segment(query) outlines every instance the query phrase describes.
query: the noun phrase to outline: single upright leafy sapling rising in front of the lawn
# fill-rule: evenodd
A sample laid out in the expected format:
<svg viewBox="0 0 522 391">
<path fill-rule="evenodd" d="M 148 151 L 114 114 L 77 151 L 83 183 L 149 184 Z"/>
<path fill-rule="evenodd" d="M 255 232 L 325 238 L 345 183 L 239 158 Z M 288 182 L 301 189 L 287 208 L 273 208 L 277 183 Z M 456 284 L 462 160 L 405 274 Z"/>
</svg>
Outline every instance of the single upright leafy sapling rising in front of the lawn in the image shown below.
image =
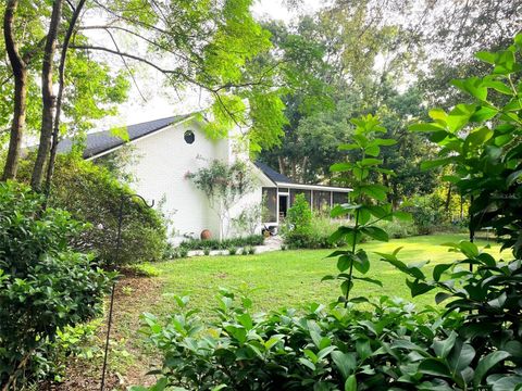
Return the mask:
<svg viewBox="0 0 522 391">
<path fill-rule="evenodd" d="M 353 268 L 361 275 L 365 275 L 370 269 L 370 261 L 363 249 L 358 249 L 361 239 L 370 237 L 380 241 L 388 241 L 388 234 L 375 226 L 381 220 L 393 220 L 394 217 L 408 219 L 410 215 L 405 212 L 394 212 L 393 206 L 387 202 L 388 188 L 375 184 L 375 176 L 386 174 L 393 175 L 389 169 L 381 167 L 383 161 L 378 159 L 381 147 L 388 147 L 396 143 L 393 139 L 378 138 L 375 135 L 385 134 L 386 129 L 381 126 L 381 122 L 369 114 L 361 118 L 353 118 L 351 123 L 356 126 L 353 130 L 353 142 L 339 146 L 340 151 L 359 151 L 360 160 L 357 162 L 343 162 L 334 164 L 331 171 L 334 173 L 347 173 L 351 178 L 352 191 L 348 194 L 349 202 L 334 206 L 331 212 L 332 217 L 350 216 L 352 225 L 340 226 L 332 236 L 332 242 L 338 242 L 345 239 L 348 250 L 339 250 L 330 254 L 330 257 L 337 256 L 337 276 L 325 276 L 326 279 L 343 280 L 340 289 L 343 297 L 339 302 L 345 306 L 348 302 L 368 301 L 365 298 L 353 298 L 350 300 L 350 291 L 353 288 L 353 280 L 361 280 L 376 283 L 382 287 L 382 282 L 369 277 L 353 275 Z"/>
</svg>

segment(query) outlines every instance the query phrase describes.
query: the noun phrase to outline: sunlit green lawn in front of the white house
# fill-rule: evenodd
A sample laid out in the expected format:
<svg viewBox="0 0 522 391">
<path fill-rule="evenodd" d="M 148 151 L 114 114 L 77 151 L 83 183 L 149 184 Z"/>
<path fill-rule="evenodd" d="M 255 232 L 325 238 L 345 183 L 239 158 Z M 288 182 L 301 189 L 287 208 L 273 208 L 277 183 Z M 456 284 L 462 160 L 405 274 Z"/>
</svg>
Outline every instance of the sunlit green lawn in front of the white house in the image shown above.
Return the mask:
<svg viewBox="0 0 522 391">
<path fill-rule="evenodd" d="M 463 235 L 436 235 L 395 239 L 387 243 L 369 242 L 363 244 L 371 258 L 368 277 L 377 278 L 383 288 L 356 282 L 353 295 L 401 297 L 411 300 L 405 285 L 406 277 L 394 267 L 378 261 L 373 252 L 391 252 L 402 247 L 399 258 L 405 263 L 430 261 L 426 269 L 437 263 L 448 262 L 459 256 L 448 253 L 440 243 L 465 239 Z M 477 244 L 485 245 L 486 241 Z M 487 250 L 498 255 L 499 247 Z M 277 310 L 282 306 L 299 307 L 304 303 L 330 303 L 339 295 L 337 281 L 321 282 L 327 274 L 336 273 L 336 258 L 325 258 L 331 250 L 277 251 L 259 255 L 198 256 L 154 264 L 160 270 L 163 293 L 188 294 L 191 307 L 208 311 L 215 303 L 217 288 L 237 288 L 246 283 L 254 290 L 250 298 L 258 311 Z M 505 255 L 507 256 L 507 255 Z M 419 305 L 433 304 L 433 294 L 413 300 Z M 156 302 L 156 313 L 164 314 L 174 310 L 173 301 L 165 295 Z"/>
</svg>

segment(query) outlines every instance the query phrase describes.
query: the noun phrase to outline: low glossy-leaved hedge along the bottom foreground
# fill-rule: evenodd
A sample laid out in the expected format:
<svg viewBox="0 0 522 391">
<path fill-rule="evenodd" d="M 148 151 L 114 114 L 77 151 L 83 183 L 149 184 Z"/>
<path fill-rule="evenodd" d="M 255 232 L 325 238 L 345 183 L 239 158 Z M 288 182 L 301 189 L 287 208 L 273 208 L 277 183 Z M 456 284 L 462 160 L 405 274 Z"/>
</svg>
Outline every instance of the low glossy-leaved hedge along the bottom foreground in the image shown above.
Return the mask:
<svg viewBox="0 0 522 391">
<path fill-rule="evenodd" d="M 443 330 L 435 312 L 419 314 L 387 298 L 373 303 L 373 311 L 311 304 L 303 314 L 252 315 L 247 297 L 221 290 L 216 320 L 204 323 L 185 308 L 187 298 L 177 302 L 183 312 L 166 323 L 151 314 L 142 321 L 165 357 L 157 371 L 164 377 L 160 383 L 186 390 L 413 389 L 410 377 L 424 375 L 405 348 L 428 351 Z M 427 390 L 436 384 L 432 378 L 415 382 Z"/>
</svg>

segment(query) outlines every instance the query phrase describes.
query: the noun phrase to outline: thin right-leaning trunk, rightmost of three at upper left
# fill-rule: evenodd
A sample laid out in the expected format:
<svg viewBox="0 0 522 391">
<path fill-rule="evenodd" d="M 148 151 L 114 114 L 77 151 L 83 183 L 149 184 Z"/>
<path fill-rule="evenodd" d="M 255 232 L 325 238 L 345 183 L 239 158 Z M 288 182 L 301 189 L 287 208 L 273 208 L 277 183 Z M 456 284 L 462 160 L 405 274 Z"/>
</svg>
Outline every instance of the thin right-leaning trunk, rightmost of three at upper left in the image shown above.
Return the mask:
<svg viewBox="0 0 522 391">
<path fill-rule="evenodd" d="M 67 27 L 67 33 L 63 39 L 62 52 L 60 55 L 60 65 L 59 65 L 59 80 L 58 80 L 58 97 L 57 97 L 57 111 L 54 113 L 54 122 L 52 124 L 52 140 L 51 140 L 51 152 L 49 155 L 49 162 L 47 164 L 47 175 L 46 175 L 46 186 L 45 193 L 46 199 L 49 198 L 51 192 L 51 180 L 54 173 L 54 162 L 57 159 L 57 148 L 59 142 L 60 135 L 60 116 L 62 112 L 62 99 L 63 99 L 63 89 L 65 87 L 65 62 L 67 60 L 67 50 L 69 43 L 71 42 L 71 37 L 73 36 L 74 27 L 78 21 L 79 13 L 82 12 L 86 0 L 80 0 L 76 9 L 74 10 L 73 15 L 71 16 L 71 22 Z"/>
</svg>

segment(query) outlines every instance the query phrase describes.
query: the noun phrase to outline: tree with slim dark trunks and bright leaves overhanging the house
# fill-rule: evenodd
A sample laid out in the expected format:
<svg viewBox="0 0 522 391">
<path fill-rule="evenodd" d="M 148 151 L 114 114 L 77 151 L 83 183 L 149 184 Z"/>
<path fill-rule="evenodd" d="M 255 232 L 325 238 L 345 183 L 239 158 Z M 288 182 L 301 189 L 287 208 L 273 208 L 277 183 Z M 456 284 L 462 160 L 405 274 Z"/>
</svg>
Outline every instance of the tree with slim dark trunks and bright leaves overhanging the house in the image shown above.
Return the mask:
<svg viewBox="0 0 522 391">
<path fill-rule="evenodd" d="M 62 10 L 63 3 L 63 10 Z M 254 150 L 270 147 L 278 142 L 281 127 L 285 119 L 284 104 L 279 98 L 278 87 L 274 83 L 277 67 L 273 64 L 252 66 L 253 59 L 270 49 L 270 34 L 263 29 L 251 16 L 250 0 L 221 1 L 194 1 L 172 3 L 146 2 L 135 0 L 101 2 L 97 0 L 78 0 L 77 2 L 39 1 L 34 7 L 21 3 L 20 22 L 25 23 L 27 10 L 33 10 L 39 17 L 32 16 L 34 24 L 39 28 L 39 36 L 46 42 L 45 48 L 38 51 L 42 56 L 42 66 L 27 68 L 30 78 L 40 76 L 42 83 L 42 99 L 27 101 L 32 110 L 40 108 L 40 115 L 32 123 L 34 128 L 40 129 L 40 144 L 35 164 L 32 184 L 40 190 L 45 164 L 47 164 L 47 182 L 52 177 L 52 167 L 55 155 L 55 146 L 59 134 L 67 131 L 61 126 L 61 112 L 69 114 L 70 106 L 84 106 L 80 102 L 85 96 L 80 87 L 91 77 L 100 81 L 103 75 L 111 75 L 109 85 L 113 85 L 117 93 L 103 93 L 97 88 L 91 91 L 94 99 L 85 105 L 90 109 L 89 115 L 82 117 L 78 123 L 80 130 L 89 127 L 90 118 L 99 117 L 100 113 L 113 113 L 113 108 L 107 103 L 121 102 L 124 85 L 121 75 L 136 84 L 133 67 L 135 63 L 145 64 L 165 76 L 165 85 L 175 90 L 186 87 L 197 87 L 206 91 L 209 99 L 213 100 L 211 109 L 213 121 L 206 127 L 211 137 L 222 137 L 233 126 L 249 127 L 250 146 Z M 10 7 L 4 10 L 4 20 L 8 27 L 12 21 L 17 1 L 10 1 Z M 61 12 L 63 11 L 63 12 Z M 103 14 L 103 25 L 84 25 L 89 21 L 89 12 Z M 11 22 L 10 22 L 11 21 Z M 42 26 L 48 26 L 48 34 L 41 34 Z M 10 29 L 5 29 L 9 31 Z M 13 30 L 13 29 L 11 29 Z M 92 43 L 87 31 L 100 30 L 107 34 L 109 45 Z M 16 29 L 17 40 L 24 42 L 26 37 Z M 13 37 L 15 34 L 13 35 Z M 8 35 L 7 43 L 16 48 L 16 41 Z M 32 37 L 34 39 L 34 37 Z M 136 42 L 135 48 L 144 48 L 141 52 L 133 53 L 121 49 L 124 39 Z M 9 41 L 9 42 L 8 42 Z M 61 48 L 60 60 L 57 62 L 54 51 Z M 11 52 L 15 53 L 13 50 Z M 96 53 L 92 55 L 92 53 Z M 107 65 L 102 54 L 115 56 L 122 61 L 122 66 Z M 20 55 L 18 55 L 20 58 Z M 24 65 L 16 55 L 14 64 Z M 169 59 L 172 66 L 164 65 Z M 16 62 L 17 61 L 17 62 Z M 65 64 L 67 64 L 65 66 Z M 87 65 L 88 64 L 88 65 Z M 258 64 L 259 65 L 259 64 Z M 72 70 L 92 66 L 94 75 L 89 73 L 78 76 L 78 84 L 67 77 Z M 58 96 L 52 93 L 51 80 L 53 70 L 59 70 Z M 24 67 L 17 67 L 22 71 Z M 14 70 L 14 67 L 13 67 Z M 11 72 L 5 70 L 7 73 Z M 90 71 L 90 70 L 89 70 Z M 117 71 L 115 74 L 114 71 Z M 98 72 L 98 73 L 96 73 Z M 23 72 L 21 74 L 23 76 Z M 23 81 L 23 77 L 18 77 Z M 104 81 L 104 80 L 102 80 Z M 14 112 L 12 148 L 8 160 L 8 174 L 15 175 L 18 160 L 20 140 L 23 131 L 24 113 L 27 93 L 33 85 L 22 86 L 20 92 L 13 94 L 14 106 L 20 110 Z M 37 90 L 37 89 L 36 89 Z M 18 90 L 16 90 L 18 91 Z M 92 94 L 92 92 L 91 92 Z M 30 96 L 30 93 L 29 93 Z M 246 104 L 248 100 L 248 104 Z M 79 104 L 78 104 L 79 103 Z M 55 108 L 55 110 L 54 110 Z M 36 111 L 36 110 L 35 110 Z M 86 114 L 85 110 L 80 110 Z M 73 113 L 73 116 L 74 113 Z M 90 118 L 88 118 L 90 116 Z M 33 121 L 33 119 L 32 119 Z M 21 125 L 17 125 L 21 124 Z M 48 185 L 46 185 L 46 188 Z"/>
</svg>

